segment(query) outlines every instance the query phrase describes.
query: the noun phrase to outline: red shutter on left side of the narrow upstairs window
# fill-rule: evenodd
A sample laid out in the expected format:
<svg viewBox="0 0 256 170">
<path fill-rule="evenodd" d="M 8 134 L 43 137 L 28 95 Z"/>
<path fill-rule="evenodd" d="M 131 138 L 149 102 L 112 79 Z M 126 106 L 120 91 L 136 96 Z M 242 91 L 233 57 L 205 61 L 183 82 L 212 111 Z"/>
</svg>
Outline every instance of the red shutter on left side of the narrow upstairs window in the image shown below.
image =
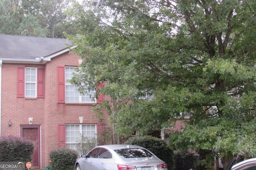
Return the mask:
<svg viewBox="0 0 256 170">
<path fill-rule="evenodd" d="M 25 67 L 18 67 L 17 97 L 25 97 Z"/>
</svg>

